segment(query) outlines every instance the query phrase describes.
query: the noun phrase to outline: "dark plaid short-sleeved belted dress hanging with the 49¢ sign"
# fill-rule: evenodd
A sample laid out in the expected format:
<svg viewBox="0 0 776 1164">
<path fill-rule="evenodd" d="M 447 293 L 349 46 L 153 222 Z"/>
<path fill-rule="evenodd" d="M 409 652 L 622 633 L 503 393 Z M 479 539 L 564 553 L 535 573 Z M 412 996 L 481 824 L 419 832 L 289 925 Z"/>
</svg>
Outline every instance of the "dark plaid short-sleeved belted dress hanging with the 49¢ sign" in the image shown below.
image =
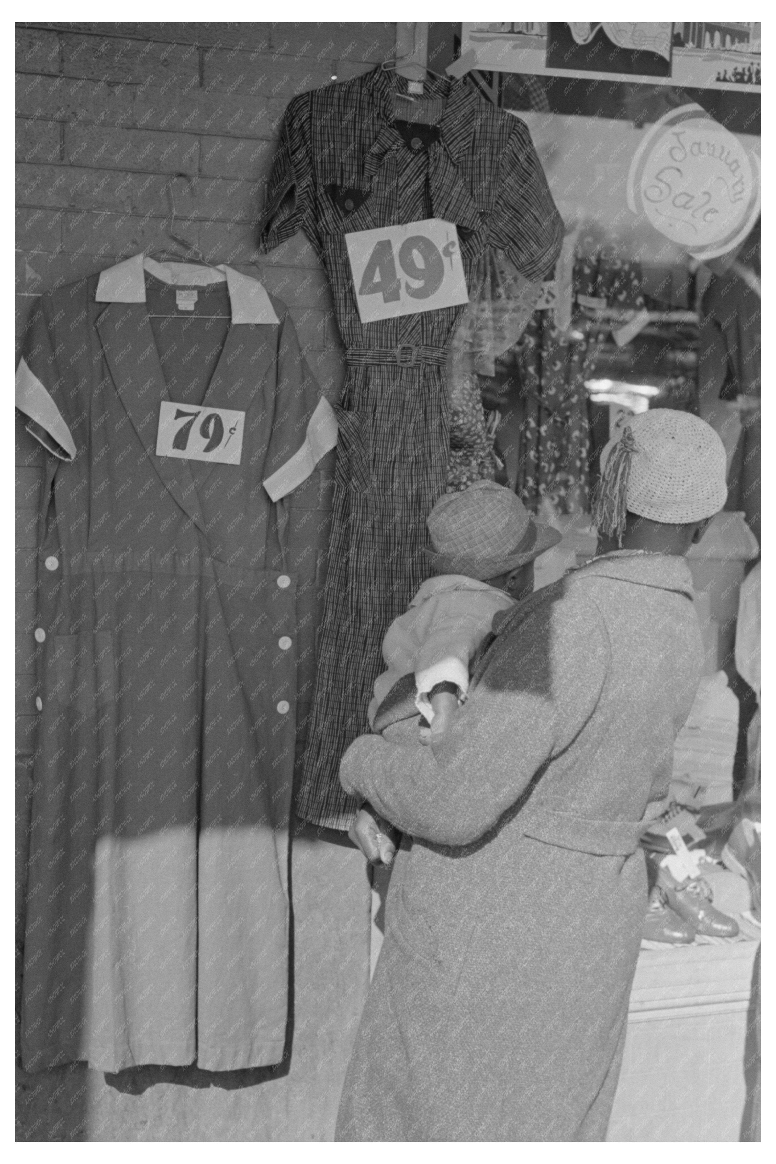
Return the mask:
<svg viewBox="0 0 776 1164">
<path fill-rule="evenodd" d="M 450 409 L 444 367 L 462 307 L 362 324 L 346 232 L 443 219 L 457 227 L 470 293 L 485 247 L 527 282 L 557 258 L 562 222 L 526 126 L 471 84 L 429 78 L 422 100 L 377 68 L 294 98 L 268 186 L 261 246 L 304 230 L 325 264 L 348 372 L 318 640 L 301 817 L 348 829 L 356 802 L 339 779 L 369 730 L 385 631 L 428 576 L 426 518 L 444 491 Z"/>
</svg>

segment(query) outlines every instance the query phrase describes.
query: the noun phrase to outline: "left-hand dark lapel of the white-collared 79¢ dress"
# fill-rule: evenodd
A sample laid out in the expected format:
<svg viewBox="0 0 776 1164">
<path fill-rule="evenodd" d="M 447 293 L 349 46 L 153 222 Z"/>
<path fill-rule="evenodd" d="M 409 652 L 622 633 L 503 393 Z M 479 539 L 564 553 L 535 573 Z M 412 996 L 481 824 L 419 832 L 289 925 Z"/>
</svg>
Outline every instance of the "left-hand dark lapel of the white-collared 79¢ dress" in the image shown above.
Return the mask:
<svg viewBox="0 0 776 1164">
<path fill-rule="evenodd" d="M 188 462 L 156 455 L 159 402 L 169 397 L 145 304 L 108 304 L 97 329 L 119 398 L 151 464 L 180 509 L 207 533 Z"/>
</svg>

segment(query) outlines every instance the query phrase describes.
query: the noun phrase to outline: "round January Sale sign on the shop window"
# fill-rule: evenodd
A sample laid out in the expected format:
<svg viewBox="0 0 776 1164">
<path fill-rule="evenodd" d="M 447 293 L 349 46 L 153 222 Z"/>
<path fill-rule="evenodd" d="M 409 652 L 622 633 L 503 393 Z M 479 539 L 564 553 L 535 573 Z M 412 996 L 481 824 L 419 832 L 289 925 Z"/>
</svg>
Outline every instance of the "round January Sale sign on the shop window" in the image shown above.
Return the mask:
<svg viewBox="0 0 776 1164">
<path fill-rule="evenodd" d="M 695 258 L 724 255 L 760 213 L 760 164 L 699 105 L 656 121 L 631 163 L 628 206 Z"/>
</svg>

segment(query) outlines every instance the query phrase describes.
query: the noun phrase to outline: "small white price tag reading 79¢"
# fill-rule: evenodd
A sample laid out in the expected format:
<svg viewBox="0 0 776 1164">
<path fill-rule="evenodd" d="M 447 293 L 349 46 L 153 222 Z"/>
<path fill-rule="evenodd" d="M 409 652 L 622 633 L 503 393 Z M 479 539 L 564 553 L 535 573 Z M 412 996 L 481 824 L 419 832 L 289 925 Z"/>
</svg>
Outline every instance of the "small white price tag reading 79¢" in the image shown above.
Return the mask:
<svg viewBox="0 0 776 1164">
<path fill-rule="evenodd" d="M 245 413 L 239 410 L 192 409 L 162 400 L 156 455 L 240 464 L 244 427 Z"/>
</svg>

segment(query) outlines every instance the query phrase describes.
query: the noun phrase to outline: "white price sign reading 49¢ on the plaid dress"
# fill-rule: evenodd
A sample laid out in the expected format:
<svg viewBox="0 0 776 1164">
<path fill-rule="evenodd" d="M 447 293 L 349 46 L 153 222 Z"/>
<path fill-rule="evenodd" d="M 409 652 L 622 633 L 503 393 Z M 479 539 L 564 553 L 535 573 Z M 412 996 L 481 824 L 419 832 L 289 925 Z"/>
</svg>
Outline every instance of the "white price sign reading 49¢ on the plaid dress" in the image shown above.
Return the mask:
<svg viewBox="0 0 776 1164">
<path fill-rule="evenodd" d="M 469 303 L 458 232 L 423 219 L 344 236 L 362 324 Z"/>
</svg>

